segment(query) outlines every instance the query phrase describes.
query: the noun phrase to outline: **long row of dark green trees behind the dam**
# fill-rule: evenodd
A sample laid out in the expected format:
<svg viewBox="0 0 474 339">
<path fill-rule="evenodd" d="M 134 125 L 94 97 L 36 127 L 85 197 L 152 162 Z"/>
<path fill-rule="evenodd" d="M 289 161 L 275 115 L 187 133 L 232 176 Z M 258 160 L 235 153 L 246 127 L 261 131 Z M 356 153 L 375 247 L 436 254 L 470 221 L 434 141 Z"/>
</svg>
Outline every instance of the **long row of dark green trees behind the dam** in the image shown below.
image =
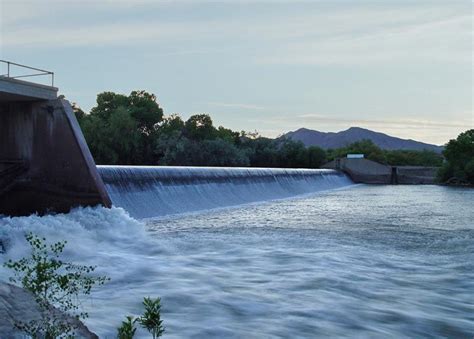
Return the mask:
<svg viewBox="0 0 474 339">
<path fill-rule="evenodd" d="M 449 176 L 469 180 L 469 175 L 460 174 L 466 164 L 443 165 L 444 157 L 447 161 L 458 157 L 451 141 L 444 157 L 429 150 L 383 150 L 370 140 L 323 150 L 286 137 L 271 139 L 257 132 L 216 127 L 208 114 L 187 120 L 177 114 L 165 116 L 156 96 L 146 91 L 103 92 L 89 114 L 77 105 L 73 109 L 99 164 L 318 168 L 348 153 L 363 153 L 388 165 L 443 166 L 443 180 Z"/>
</svg>

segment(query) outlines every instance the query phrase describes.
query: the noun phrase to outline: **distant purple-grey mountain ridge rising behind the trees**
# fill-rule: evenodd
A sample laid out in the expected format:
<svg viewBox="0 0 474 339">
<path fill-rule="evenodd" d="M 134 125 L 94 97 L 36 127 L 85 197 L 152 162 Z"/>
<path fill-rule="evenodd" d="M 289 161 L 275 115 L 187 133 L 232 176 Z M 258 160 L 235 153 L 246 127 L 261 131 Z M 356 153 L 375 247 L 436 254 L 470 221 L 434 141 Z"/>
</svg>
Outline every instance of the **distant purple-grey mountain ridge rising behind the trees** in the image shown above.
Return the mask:
<svg viewBox="0 0 474 339">
<path fill-rule="evenodd" d="M 284 136 L 293 140 L 299 140 L 306 146 L 319 146 L 325 149 L 344 147 L 362 139 L 369 139 L 380 148 L 387 150 L 403 149 L 421 151 L 426 149 L 438 153 L 441 153 L 443 150 L 442 146 L 426 144 L 411 139 L 400 139 L 360 127 L 351 127 L 348 130 L 337 133 L 325 133 L 300 128 L 294 132 L 288 132 Z"/>
</svg>

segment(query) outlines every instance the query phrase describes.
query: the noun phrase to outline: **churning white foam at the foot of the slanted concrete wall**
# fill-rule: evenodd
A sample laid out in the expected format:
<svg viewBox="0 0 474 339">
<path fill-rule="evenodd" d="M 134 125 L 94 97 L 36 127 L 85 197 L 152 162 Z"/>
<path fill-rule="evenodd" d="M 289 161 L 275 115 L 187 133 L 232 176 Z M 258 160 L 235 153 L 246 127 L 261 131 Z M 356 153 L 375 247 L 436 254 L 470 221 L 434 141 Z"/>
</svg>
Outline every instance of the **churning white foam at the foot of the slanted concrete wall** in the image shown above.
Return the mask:
<svg viewBox="0 0 474 339">
<path fill-rule="evenodd" d="M 110 263 L 122 260 L 126 253 L 141 249 L 150 241 L 144 225 L 123 209 L 85 207 L 68 214 L 0 218 L 0 240 L 6 252 L 1 259 L 18 259 L 29 253 L 25 240 L 28 232 L 45 237 L 48 242 L 66 240 L 66 259 L 107 267 L 107 274 L 115 276 L 120 275 L 120 267 Z M 8 275 L 3 266 L 0 273 L 2 278 Z"/>
</svg>

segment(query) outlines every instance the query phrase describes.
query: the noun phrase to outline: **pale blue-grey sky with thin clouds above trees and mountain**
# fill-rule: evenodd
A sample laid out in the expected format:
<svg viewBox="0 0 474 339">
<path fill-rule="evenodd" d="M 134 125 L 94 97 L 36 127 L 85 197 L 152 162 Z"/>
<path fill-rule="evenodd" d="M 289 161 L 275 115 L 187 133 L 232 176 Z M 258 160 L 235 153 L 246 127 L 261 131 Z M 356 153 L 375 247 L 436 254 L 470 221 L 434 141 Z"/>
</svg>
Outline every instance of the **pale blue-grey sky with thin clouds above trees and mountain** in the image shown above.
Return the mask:
<svg viewBox="0 0 474 339">
<path fill-rule="evenodd" d="M 471 0 L 0 0 L 0 59 L 275 137 L 351 126 L 444 144 L 474 128 Z"/>
</svg>

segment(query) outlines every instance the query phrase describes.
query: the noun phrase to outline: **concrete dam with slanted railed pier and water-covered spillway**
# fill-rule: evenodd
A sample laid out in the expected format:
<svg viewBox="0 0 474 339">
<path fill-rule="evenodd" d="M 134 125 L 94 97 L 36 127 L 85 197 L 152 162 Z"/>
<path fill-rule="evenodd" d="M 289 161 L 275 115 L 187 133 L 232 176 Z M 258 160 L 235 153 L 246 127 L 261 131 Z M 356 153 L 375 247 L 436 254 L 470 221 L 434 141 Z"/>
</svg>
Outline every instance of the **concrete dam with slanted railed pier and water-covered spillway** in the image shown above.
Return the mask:
<svg viewBox="0 0 474 339">
<path fill-rule="evenodd" d="M 96 166 L 71 105 L 57 96 L 54 73 L 0 64 L 7 67 L 0 76 L 0 215 L 113 203 L 135 218 L 151 218 L 352 184 L 334 170 Z M 38 76 L 50 82 L 30 81 Z"/>
</svg>

